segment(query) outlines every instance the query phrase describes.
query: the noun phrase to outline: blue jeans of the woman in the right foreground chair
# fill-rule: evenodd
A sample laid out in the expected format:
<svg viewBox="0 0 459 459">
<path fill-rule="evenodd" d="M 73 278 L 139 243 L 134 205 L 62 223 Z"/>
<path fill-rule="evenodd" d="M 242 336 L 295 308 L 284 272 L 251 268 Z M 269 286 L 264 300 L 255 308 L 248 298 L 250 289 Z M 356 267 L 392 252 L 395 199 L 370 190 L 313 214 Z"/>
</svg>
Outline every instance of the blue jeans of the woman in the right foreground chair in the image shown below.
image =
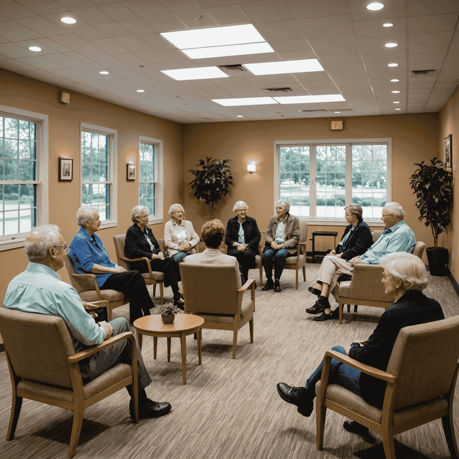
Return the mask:
<svg viewBox="0 0 459 459">
<path fill-rule="evenodd" d="M 344 347 L 342 346 L 333 346 L 331 350 L 346 355 Z M 319 366 L 314 370 L 313 374 L 309 376 L 308 381 L 306 381 L 305 387 L 311 397 L 315 397 L 315 385 L 317 381 L 320 381 L 322 377 L 322 364 L 323 361 L 320 362 Z M 328 383 L 339 384 L 340 386 L 345 387 L 348 391 L 351 391 L 354 394 L 362 397 L 362 392 L 360 392 L 360 387 L 358 386 L 360 373 L 361 372 L 355 368 L 352 368 L 346 364 L 342 364 L 336 360 L 336 358 L 332 358 Z"/>
</svg>

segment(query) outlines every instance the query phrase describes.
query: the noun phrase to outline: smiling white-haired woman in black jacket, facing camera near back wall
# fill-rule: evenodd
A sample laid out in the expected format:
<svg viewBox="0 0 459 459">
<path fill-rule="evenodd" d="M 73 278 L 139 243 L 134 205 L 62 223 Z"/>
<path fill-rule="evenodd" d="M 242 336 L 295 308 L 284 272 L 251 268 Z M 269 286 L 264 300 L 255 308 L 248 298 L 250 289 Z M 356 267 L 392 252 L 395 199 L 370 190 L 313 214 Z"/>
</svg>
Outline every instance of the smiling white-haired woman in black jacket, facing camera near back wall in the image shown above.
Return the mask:
<svg viewBox="0 0 459 459">
<path fill-rule="evenodd" d="M 236 257 L 245 281 L 248 279 L 249 269 L 255 266 L 255 256 L 260 253 L 258 244 L 261 239 L 257 221 L 247 216 L 248 211 L 249 206 L 244 201 L 237 201 L 233 207 L 236 216 L 228 220 L 225 232 L 227 253 Z"/>
</svg>

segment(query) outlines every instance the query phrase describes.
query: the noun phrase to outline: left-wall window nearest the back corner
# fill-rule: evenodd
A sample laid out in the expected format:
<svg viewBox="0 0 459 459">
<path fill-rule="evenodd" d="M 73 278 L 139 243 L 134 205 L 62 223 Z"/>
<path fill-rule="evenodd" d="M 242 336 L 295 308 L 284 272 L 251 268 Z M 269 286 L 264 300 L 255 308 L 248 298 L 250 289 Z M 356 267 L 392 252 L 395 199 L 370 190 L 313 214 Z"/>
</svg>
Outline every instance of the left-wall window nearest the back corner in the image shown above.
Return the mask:
<svg viewBox="0 0 459 459">
<path fill-rule="evenodd" d="M 162 140 L 139 136 L 139 204 L 149 223 L 162 222 Z"/>
</svg>

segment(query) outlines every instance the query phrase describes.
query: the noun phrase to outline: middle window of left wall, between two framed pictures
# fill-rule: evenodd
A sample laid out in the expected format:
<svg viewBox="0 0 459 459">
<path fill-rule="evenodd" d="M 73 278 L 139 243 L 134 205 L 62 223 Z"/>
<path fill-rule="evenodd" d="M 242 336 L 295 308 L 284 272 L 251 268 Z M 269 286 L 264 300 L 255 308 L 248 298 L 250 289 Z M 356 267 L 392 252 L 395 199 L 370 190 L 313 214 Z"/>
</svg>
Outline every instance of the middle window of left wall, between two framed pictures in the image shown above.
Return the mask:
<svg viewBox="0 0 459 459">
<path fill-rule="evenodd" d="M 117 134 L 81 123 L 81 205 L 99 210 L 101 228 L 117 224 Z"/>
</svg>

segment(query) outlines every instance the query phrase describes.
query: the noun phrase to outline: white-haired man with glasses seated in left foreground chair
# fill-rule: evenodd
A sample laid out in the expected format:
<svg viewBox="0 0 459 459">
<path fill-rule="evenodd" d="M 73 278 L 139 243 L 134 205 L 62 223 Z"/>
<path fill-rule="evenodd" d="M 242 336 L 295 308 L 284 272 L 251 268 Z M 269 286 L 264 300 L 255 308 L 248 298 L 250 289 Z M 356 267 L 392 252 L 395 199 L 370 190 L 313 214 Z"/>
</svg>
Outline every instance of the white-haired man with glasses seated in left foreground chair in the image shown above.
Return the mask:
<svg viewBox="0 0 459 459">
<path fill-rule="evenodd" d="M 123 317 L 107 323 L 99 322 L 84 310 L 88 303 L 82 302 L 77 291 L 62 282 L 57 271 L 64 266 L 65 249 L 59 228 L 54 225 L 37 226 L 27 236 L 24 246 L 29 259 L 27 269 L 11 280 L 6 290 L 4 306 L 27 313 L 50 314 L 62 317 L 72 338 L 75 353 L 101 344 L 111 336 L 129 331 Z M 27 339 L 27 337 L 25 337 Z M 79 362 L 83 384 L 112 368 L 118 362 L 130 364 L 130 349 L 127 340 L 120 341 Z M 157 418 L 171 409 L 169 403 L 157 403 L 146 397 L 145 388 L 151 383 L 140 349 L 137 348 L 139 372 L 139 418 Z M 131 396 L 129 411 L 134 418 L 131 386 L 126 389 Z"/>
</svg>

